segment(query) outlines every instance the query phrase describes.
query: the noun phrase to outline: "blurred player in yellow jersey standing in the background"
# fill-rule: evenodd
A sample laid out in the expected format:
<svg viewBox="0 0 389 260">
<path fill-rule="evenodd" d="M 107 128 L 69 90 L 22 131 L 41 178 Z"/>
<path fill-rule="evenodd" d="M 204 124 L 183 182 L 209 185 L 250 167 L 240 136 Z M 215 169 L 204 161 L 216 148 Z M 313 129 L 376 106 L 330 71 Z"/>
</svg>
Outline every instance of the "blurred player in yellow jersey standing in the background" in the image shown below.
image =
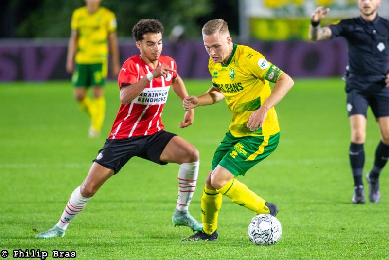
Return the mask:
<svg viewBox="0 0 389 260">
<path fill-rule="evenodd" d="M 74 10 L 68 45 L 66 70 L 73 73 L 74 96 L 91 117 L 89 137 L 97 137 L 103 125 L 106 101 L 103 85 L 108 72 L 108 44 L 112 57 L 112 76 L 120 71 L 115 14 L 100 7 L 101 0 L 85 0 L 86 6 Z M 93 87 L 93 98 L 87 88 Z"/>
</svg>

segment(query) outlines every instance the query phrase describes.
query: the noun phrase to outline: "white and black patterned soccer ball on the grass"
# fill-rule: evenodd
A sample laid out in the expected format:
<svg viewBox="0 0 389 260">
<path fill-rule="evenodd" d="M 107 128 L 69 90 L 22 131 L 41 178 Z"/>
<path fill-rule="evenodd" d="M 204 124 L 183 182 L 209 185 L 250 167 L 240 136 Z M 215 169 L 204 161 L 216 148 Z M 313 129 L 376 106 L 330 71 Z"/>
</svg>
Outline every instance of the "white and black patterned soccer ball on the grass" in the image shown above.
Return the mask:
<svg viewBox="0 0 389 260">
<path fill-rule="evenodd" d="M 248 225 L 250 241 L 257 245 L 273 245 L 281 238 L 281 233 L 280 221 L 270 214 L 257 215 Z"/>
</svg>

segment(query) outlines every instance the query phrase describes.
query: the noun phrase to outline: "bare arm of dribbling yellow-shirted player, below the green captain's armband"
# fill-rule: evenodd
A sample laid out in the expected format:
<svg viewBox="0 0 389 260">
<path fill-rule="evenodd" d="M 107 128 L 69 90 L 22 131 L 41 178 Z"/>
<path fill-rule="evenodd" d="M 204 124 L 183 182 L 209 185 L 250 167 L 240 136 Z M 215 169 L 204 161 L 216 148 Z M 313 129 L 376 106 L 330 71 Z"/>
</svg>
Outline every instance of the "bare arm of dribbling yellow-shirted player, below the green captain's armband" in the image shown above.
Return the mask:
<svg viewBox="0 0 389 260">
<path fill-rule="evenodd" d="M 265 122 L 267 111 L 280 102 L 288 91 L 293 87 L 293 79 L 286 73 L 280 75 L 277 79 L 276 85 L 274 85 L 273 92 L 261 105 L 261 107 L 252 112 L 250 120 L 247 122 L 247 128 L 251 131 L 257 130 L 258 127 L 262 127 Z"/>
</svg>

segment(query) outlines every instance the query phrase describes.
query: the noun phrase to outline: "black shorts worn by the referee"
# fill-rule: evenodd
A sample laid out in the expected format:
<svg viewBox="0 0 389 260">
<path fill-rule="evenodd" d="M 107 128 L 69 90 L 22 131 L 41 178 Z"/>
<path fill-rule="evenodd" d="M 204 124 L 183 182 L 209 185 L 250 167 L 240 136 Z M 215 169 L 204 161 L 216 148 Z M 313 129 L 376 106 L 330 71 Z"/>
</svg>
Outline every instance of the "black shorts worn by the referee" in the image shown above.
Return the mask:
<svg viewBox="0 0 389 260">
<path fill-rule="evenodd" d="M 366 91 L 360 89 L 348 89 L 347 111 L 348 116 L 362 114 L 365 117 L 368 106 L 374 113 L 375 118 L 389 116 L 389 89 L 382 88 L 381 91 Z"/>
</svg>

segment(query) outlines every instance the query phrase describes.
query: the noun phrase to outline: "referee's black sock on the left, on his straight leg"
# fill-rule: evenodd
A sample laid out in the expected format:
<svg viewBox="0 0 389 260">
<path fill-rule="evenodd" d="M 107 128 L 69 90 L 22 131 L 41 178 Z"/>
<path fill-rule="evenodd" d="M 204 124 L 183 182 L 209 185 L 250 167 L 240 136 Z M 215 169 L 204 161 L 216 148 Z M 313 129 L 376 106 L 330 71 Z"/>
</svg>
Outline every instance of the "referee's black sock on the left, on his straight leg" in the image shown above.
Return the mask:
<svg viewBox="0 0 389 260">
<path fill-rule="evenodd" d="M 363 144 L 355 144 L 351 142 L 349 156 L 351 170 L 354 177 L 354 186 L 363 185 L 362 173 L 363 165 L 365 164 L 365 151 L 363 150 Z"/>
</svg>

